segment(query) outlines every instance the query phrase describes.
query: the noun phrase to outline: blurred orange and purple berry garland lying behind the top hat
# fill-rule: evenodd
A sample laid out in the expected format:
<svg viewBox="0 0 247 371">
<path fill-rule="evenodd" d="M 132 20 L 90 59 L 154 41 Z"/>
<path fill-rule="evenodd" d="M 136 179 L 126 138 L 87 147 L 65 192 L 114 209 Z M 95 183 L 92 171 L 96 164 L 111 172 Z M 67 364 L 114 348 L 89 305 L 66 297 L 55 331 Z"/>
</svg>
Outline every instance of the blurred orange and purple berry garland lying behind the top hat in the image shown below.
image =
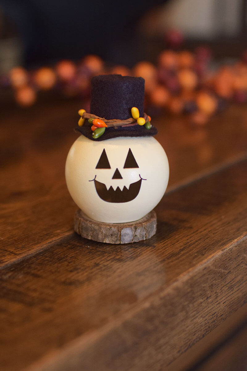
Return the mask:
<svg viewBox="0 0 247 371">
<path fill-rule="evenodd" d="M 75 64 L 61 60 L 54 67 L 42 67 L 28 72 L 22 67 L 1 76 L 2 86 L 11 86 L 20 106 L 31 106 L 38 91 L 59 89 L 65 96 L 81 96 L 89 112 L 90 81 L 92 76 L 106 73 L 142 76 L 145 79 L 145 110 L 155 115 L 162 109 L 172 114 L 186 113 L 195 125 L 205 125 L 225 102 L 247 102 L 247 53 L 233 65 L 222 65 L 210 71 L 212 56 L 207 47 L 194 52 L 164 50 L 157 66 L 139 62 L 132 70 L 125 66 L 107 68 L 96 55 L 85 56 Z"/>
</svg>

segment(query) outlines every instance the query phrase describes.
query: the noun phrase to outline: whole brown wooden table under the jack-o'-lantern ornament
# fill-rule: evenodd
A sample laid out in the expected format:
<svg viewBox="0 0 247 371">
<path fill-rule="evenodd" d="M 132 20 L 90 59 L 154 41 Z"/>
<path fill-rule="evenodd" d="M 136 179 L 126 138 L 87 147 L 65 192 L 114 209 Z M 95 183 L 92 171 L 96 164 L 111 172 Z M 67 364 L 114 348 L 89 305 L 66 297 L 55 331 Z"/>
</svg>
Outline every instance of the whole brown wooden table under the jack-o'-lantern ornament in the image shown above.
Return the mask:
<svg viewBox="0 0 247 371">
<path fill-rule="evenodd" d="M 158 231 L 121 246 L 73 231 L 64 164 L 79 108 L 1 113 L 0 369 L 246 364 L 247 107 L 206 128 L 156 119 L 170 162 Z"/>
</svg>

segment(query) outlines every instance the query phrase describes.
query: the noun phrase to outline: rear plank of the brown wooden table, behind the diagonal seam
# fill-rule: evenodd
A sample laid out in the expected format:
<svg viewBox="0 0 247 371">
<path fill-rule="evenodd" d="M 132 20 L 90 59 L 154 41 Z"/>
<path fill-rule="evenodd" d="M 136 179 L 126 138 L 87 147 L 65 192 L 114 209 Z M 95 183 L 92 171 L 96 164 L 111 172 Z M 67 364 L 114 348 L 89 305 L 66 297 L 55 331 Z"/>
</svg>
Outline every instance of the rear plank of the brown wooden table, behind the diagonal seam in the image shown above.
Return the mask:
<svg viewBox="0 0 247 371">
<path fill-rule="evenodd" d="M 76 207 L 64 164 L 78 137 L 72 128 L 80 106 L 51 99 L 26 110 L 6 107 L 1 114 L 1 266 L 71 233 Z M 169 158 L 169 188 L 245 158 L 246 115 L 247 107 L 230 107 L 204 129 L 190 127 L 183 118 L 156 119 L 157 139 Z"/>
</svg>

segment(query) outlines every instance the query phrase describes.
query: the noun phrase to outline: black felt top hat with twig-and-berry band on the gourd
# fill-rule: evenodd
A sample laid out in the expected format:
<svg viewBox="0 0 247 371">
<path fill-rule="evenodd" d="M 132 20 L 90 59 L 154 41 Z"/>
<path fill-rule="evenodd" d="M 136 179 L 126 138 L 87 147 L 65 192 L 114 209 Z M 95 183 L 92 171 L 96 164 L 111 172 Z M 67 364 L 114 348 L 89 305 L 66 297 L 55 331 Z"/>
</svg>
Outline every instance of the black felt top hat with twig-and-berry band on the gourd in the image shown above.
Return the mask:
<svg viewBox="0 0 247 371">
<path fill-rule="evenodd" d="M 144 84 L 145 80 L 141 77 L 121 75 L 93 77 L 90 114 L 82 112 L 84 110 L 79 111 L 82 118 L 78 123 L 80 126 L 75 128 L 75 131 L 94 141 L 115 137 L 150 137 L 157 134 L 157 129 L 150 125 L 150 117 L 143 112 Z M 135 115 L 132 116 L 133 107 L 135 111 L 139 111 L 142 124 L 138 124 L 140 121 L 133 117 Z M 101 121 L 105 123 L 105 128 L 98 129 L 98 125 L 102 125 Z M 97 130 L 94 132 L 95 125 Z M 99 137 L 97 133 L 100 134 Z"/>
</svg>

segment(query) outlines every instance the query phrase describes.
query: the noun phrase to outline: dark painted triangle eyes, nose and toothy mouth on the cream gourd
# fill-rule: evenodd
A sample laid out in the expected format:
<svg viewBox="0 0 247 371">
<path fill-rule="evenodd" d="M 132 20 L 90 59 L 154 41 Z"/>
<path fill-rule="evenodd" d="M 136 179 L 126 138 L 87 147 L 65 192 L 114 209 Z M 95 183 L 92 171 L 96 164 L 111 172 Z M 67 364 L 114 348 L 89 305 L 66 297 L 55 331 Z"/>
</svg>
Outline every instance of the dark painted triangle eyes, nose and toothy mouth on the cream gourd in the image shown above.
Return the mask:
<svg viewBox="0 0 247 371">
<path fill-rule="evenodd" d="M 124 163 L 124 168 L 121 170 L 121 173 L 124 175 L 124 169 L 139 169 L 139 166 L 135 160 L 135 157 L 133 156 L 133 153 L 131 149 L 129 148 L 125 163 Z M 96 169 L 111 169 L 108 157 L 106 155 L 105 148 L 102 151 L 102 154 L 99 158 L 99 161 L 97 163 Z M 112 180 L 113 183 L 116 183 L 116 181 L 119 181 L 120 179 L 123 179 L 120 171 L 118 168 L 114 171 L 114 174 L 112 175 Z M 101 183 L 100 181 L 97 180 L 97 175 L 95 175 L 94 179 L 89 180 L 89 181 L 94 181 L 95 189 L 97 191 L 98 196 L 106 201 L 106 202 L 115 202 L 115 203 L 121 203 L 121 202 L 129 202 L 132 201 L 134 198 L 139 193 L 139 190 L 141 188 L 142 180 L 141 175 L 139 174 L 140 179 L 137 180 L 134 183 L 131 183 L 129 185 L 129 188 L 124 185 L 124 188 L 121 190 L 119 185 L 116 187 L 114 190 L 113 186 L 109 189 L 106 188 L 106 185 L 104 183 Z"/>
</svg>

